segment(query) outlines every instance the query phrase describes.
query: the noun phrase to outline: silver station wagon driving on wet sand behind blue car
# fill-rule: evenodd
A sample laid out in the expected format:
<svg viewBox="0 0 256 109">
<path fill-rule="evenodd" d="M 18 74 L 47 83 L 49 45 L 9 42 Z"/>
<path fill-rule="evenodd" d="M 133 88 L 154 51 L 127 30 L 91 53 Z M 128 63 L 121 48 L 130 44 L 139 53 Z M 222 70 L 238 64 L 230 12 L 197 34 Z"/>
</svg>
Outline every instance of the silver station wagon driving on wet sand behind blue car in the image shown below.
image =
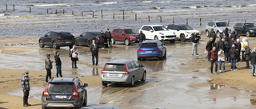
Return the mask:
<svg viewBox="0 0 256 109">
<path fill-rule="evenodd" d="M 130 84 L 146 80 L 146 70 L 135 60 L 111 60 L 104 65 L 101 72 L 102 85 L 110 83 Z"/>
</svg>

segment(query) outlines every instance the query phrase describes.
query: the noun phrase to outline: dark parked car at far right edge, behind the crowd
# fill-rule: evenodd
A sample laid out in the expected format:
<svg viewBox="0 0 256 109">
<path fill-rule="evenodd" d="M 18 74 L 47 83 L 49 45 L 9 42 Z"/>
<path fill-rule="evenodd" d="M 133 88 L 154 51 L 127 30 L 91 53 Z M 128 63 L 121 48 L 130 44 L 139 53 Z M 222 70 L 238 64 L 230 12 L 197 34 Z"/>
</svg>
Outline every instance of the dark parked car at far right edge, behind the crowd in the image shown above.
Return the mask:
<svg viewBox="0 0 256 109">
<path fill-rule="evenodd" d="M 234 30 L 239 35 L 246 35 L 246 37 L 256 36 L 256 24 L 254 23 L 236 23 Z"/>
</svg>

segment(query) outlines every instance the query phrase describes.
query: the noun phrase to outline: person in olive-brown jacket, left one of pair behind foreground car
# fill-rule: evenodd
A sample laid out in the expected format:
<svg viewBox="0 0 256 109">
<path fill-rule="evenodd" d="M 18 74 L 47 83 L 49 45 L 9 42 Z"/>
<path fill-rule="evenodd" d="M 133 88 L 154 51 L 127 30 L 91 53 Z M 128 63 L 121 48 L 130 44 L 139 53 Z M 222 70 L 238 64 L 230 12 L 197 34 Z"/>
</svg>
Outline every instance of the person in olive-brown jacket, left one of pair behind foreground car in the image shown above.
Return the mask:
<svg viewBox="0 0 256 109">
<path fill-rule="evenodd" d="M 46 67 L 46 82 L 48 82 L 48 76 L 51 79 L 51 69 L 53 61 L 50 60 L 50 54 L 46 54 L 45 67 Z"/>
</svg>

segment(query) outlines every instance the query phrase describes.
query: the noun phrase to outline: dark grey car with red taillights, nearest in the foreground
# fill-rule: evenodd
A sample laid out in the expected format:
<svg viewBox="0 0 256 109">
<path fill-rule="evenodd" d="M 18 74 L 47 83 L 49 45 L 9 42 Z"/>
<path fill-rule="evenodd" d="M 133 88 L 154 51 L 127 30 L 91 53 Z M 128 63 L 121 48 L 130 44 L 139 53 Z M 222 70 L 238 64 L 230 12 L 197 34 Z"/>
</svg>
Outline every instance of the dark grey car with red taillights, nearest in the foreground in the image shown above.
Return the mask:
<svg viewBox="0 0 256 109">
<path fill-rule="evenodd" d="M 48 84 L 44 85 L 46 89 L 42 92 L 42 109 L 48 107 L 81 108 L 87 104 L 86 87 L 88 84 L 82 84 L 78 77 L 52 78 Z"/>
</svg>

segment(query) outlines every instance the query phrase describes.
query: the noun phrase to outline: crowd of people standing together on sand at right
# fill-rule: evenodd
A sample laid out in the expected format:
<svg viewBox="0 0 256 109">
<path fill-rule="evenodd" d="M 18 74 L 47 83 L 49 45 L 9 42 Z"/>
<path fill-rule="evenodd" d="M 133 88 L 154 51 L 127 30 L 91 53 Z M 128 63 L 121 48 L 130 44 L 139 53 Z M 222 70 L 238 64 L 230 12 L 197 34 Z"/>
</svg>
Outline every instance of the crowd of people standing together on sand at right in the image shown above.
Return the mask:
<svg viewBox="0 0 256 109">
<path fill-rule="evenodd" d="M 209 34 L 206 51 L 208 53 L 207 59 L 210 61 L 211 74 L 218 74 L 218 69 L 219 72 L 226 72 L 225 61 L 231 65 L 230 71 L 237 70 L 237 62 L 245 61 L 246 69 L 249 69 L 251 64 L 252 76 L 256 76 L 254 73 L 256 65 L 256 48 L 252 50 L 250 49 L 247 37 L 242 38 L 242 42 L 240 42 L 240 36 L 238 36 L 234 30 L 232 30 L 230 34 L 227 32 L 228 29 L 226 29 L 220 37 L 217 37 L 216 33 L 214 33 L 214 29 L 212 29 Z M 219 39 L 218 41 L 216 41 L 217 38 Z M 215 71 L 213 72 L 214 64 Z"/>
</svg>

